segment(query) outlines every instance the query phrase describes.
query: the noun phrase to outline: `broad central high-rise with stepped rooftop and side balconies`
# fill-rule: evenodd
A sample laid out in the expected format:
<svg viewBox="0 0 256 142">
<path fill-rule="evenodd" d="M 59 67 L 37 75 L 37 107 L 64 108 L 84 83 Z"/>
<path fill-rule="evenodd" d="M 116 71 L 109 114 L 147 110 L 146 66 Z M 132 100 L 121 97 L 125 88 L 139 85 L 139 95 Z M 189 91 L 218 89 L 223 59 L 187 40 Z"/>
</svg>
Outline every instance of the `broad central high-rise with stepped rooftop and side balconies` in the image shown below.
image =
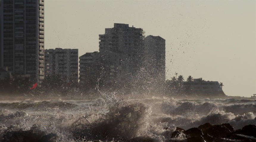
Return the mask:
<svg viewBox="0 0 256 142">
<path fill-rule="evenodd" d="M 99 35 L 99 54 L 107 83 L 131 82 L 138 79 L 142 66 L 144 31 L 128 24 L 114 23 Z"/>
</svg>

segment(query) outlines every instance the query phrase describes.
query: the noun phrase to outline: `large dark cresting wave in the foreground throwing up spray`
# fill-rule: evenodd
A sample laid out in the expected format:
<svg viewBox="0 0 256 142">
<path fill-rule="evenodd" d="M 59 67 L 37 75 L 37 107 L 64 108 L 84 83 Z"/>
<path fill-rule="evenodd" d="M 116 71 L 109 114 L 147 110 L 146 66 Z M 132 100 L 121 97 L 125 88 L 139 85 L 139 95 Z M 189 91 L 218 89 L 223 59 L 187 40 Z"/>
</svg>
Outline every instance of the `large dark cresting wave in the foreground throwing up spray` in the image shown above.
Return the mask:
<svg viewBox="0 0 256 142">
<path fill-rule="evenodd" d="M 143 103 L 118 103 L 106 114 L 92 114 L 74 123 L 74 137 L 79 140 L 128 140 L 145 126 L 148 107 Z"/>
</svg>

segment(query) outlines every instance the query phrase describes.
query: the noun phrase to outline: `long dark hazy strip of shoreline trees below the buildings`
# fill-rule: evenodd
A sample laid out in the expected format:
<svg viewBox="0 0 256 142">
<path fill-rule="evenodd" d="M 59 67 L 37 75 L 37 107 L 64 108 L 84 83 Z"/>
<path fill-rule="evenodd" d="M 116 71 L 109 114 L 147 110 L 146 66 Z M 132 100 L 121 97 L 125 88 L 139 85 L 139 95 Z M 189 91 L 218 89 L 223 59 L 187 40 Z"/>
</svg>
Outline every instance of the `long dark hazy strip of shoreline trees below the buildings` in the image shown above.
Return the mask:
<svg viewBox="0 0 256 142">
<path fill-rule="evenodd" d="M 205 80 L 202 78 L 198 79 L 200 86 Z M 224 95 L 224 92 L 205 92 L 203 90 L 194 90 L 191 88 L 193 84 L 193 77 L 189 76 L 187 82 L 184 85 L 184 77 L 179 75 L 172 77 L 171 80 L 166 80 L 164 82 L 160 81 L 145 81 L 140 80 L 137 82 L 129 82 L 126 84 L 106 84 L 101 82 L 88 82 L 86 84 L 78 84 L 74 82 L 66 83 L 61 79 L 60 75 L 45 76 L 43 82 L 36 88 L 30 89 L 34 83 L 32 83 L 28 78 L 22 78 L 19 76 L 10 76 L 5 79 L 0 79 L 0 93 L 3 94 L 58 94 L 58 95 L 72 95 L 72 94 L 88 94 L 97 95 L 101 92 L 116 92 L 117 94 L 146 94 L 146 95 L 164 95 L 164 96 L 192 96 L 192 95 Z M 223 84 L 221 83 L 221 87 Z"/>
</svg>

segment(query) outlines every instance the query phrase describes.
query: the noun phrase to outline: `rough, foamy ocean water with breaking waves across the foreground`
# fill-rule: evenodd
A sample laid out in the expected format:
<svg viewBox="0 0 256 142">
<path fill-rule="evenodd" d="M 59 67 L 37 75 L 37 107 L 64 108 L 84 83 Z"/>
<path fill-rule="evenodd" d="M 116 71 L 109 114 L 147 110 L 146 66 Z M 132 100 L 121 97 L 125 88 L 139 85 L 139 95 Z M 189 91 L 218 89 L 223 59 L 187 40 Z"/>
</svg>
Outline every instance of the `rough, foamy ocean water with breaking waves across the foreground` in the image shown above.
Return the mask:
<svg viewBox="0 0 256 142">
<path fill-rule="evenodd" d="M 23 96 L 0 100 L 0 142 L 173 141 L 176 127 L 230 123 L 235 130 L 256 125 L 252 98 Z M 175 141 L 185 141 L 176 138 Z M 18 140 L 17 140 L 18 141 Z"/>
</svg>

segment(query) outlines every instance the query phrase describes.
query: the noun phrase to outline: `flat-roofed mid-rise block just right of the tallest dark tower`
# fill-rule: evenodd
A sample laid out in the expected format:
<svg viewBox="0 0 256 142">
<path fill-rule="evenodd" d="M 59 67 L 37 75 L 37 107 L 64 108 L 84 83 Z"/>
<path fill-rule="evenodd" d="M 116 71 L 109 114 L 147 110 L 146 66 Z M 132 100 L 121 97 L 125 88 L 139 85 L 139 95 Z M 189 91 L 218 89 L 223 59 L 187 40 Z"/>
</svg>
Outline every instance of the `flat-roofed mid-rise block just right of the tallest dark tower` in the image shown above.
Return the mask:
<svg viewBox="0 0 256 142">
<path fill-rule="evenodd" d="M 66 83 L 77 83 L 78 49 L 46 49 L 45 75 L 60 75 Z"/>
</svg>

